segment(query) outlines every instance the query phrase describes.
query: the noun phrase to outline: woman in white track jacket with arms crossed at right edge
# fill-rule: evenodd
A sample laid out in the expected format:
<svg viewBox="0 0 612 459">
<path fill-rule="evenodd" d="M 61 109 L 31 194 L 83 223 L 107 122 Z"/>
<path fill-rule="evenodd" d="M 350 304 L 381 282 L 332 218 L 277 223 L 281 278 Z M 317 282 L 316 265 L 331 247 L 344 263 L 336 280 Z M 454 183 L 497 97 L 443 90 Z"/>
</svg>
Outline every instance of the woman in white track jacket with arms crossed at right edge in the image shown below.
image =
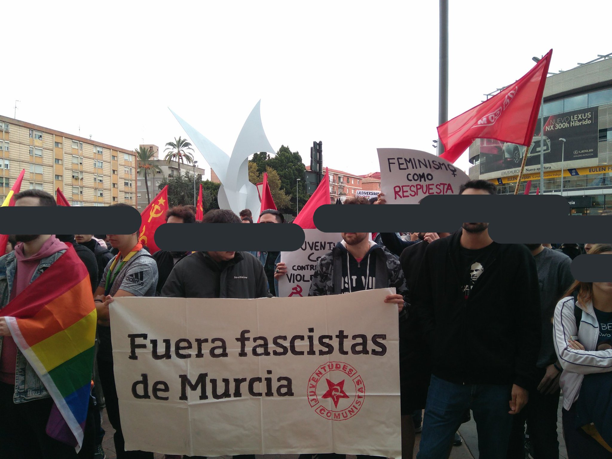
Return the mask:
<svg viewBox="0 0 612 459">
<path fill-rule="evenodd" d="M 589 251 L 600 254 L 612 255 L 612 244 Z M 612 458 L 612 282 L 574 282 L 553 323 L 567 455 Z"/>
</svg>

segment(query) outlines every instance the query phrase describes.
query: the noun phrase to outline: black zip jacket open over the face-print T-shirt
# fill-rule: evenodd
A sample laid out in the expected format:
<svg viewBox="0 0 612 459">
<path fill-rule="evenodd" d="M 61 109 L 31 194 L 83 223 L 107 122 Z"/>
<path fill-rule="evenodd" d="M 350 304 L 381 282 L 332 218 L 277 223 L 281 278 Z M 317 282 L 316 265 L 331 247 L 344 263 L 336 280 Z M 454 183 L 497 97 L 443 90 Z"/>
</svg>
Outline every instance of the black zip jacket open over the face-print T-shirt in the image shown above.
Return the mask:
<svg viewBox="0 0 612 459">
<path fill-rule="evenodd" d="M 524 245 L 499 244 L 465 300 L 460 239 L 461 231 L 427 246 L 411 297 L 432 373 L 456 384 L 535 389 L 542 319 L 534 258 Z"/>
</svg>

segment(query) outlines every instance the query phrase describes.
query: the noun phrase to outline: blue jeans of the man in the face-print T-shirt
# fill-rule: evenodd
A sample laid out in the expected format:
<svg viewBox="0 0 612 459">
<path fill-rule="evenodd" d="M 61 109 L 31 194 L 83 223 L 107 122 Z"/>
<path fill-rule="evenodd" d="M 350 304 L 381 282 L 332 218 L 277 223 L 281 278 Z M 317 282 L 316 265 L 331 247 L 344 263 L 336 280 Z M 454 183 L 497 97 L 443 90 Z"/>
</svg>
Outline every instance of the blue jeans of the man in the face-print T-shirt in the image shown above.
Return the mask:
<svg viewBox="0 0 612 459">
<path fill-rule="evenodd" d="M 512 385 L 454 384 L 431 375 L 417 459 L 447 459 L 455 432 L 471 409 L 480 459 L 506 459 L 512 430 Z"/>
</svg>

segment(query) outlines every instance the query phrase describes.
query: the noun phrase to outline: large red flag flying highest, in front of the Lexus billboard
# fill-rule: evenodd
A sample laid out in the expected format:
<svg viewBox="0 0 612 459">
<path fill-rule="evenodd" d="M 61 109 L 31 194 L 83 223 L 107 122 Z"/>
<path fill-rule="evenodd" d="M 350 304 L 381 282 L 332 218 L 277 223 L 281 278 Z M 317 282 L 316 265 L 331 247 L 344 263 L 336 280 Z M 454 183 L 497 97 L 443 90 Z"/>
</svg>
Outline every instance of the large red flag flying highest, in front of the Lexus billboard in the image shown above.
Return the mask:
<svg viewBox="0 0 612 459">
<path fill-rule="evenodd" d="M 553 50 L 548 51 L 533 69 L 499 94 L 438 126 L 445 149 L 440 157 L 457 161 L 477 138 L 531 145 L 552 54 Z"/>
</svg>

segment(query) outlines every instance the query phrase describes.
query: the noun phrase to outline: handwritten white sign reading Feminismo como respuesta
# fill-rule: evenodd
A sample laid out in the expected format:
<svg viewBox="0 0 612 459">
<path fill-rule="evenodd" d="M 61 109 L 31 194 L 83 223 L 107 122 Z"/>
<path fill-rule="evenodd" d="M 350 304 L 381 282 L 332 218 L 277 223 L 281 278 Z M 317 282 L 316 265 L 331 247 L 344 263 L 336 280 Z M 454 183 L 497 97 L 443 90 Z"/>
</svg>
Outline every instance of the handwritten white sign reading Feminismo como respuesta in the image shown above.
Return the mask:
<svg viewBox="0 0 612 459">
<path fill-rule="evenodd" d="M 387 204 L 418 204 L 428 195 L 457 195 L 469 177 L 436 155 L 404 148 L 379 148 L 381 191 Z"/>
</svg>

